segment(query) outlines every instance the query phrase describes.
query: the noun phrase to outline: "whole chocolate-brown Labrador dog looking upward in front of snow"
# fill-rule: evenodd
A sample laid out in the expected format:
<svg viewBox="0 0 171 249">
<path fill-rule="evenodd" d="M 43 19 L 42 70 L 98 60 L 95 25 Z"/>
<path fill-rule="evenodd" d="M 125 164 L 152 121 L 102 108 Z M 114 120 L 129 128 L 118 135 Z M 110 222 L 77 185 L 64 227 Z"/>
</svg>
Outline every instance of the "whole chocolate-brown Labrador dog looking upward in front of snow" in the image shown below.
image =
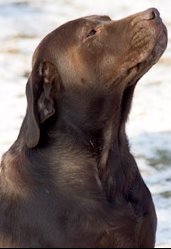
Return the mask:
<svg viewBox="0 0 171 249">
<path fill-rule="evenodd" d="M 125 123 L 166 45 L 156 9 L 81 18 L 40 43 L 26 117 L 1 163 L 1 247 L 154 247 L 156 213 Z"/>
</svg>

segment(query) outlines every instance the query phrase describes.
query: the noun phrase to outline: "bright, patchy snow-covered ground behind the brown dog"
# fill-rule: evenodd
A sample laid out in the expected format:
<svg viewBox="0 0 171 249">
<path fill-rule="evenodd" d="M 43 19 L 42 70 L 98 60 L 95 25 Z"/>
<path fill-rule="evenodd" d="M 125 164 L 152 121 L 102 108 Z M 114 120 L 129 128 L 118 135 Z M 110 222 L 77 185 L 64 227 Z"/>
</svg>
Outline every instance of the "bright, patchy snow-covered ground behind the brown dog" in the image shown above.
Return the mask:
<svg viewBox="0 0 171 249">
<path fill-rule="evenodd" d="M 25 85 L 39 41 L 85 15 L 122 18 L 157 7 L 171 31 L 171 0 L 0 0 L 0 156 L 14 142 L 26 110 Z M 128 124 L 132 152 L 159 219 L 157 247 L 171 247 L 171 33 L 160 62 L 139 82 Z"/>
</svg>

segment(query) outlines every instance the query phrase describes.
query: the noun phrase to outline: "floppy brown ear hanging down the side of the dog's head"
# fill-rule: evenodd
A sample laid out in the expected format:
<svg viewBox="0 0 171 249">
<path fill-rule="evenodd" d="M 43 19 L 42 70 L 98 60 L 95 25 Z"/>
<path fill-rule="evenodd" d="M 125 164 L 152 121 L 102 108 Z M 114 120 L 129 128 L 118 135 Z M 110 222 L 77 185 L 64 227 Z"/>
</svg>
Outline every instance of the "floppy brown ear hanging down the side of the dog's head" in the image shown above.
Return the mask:
<svg viewBox="0 0 171 249">
<path fill-rule="evenodd" d="M 40 124 L 55 114 L 54 93 L 59 77 L 55 66 L 42 62 L 33 68 L 27 83 L 26 145 L 35 148 L 40 140 Z"/>
</svg>

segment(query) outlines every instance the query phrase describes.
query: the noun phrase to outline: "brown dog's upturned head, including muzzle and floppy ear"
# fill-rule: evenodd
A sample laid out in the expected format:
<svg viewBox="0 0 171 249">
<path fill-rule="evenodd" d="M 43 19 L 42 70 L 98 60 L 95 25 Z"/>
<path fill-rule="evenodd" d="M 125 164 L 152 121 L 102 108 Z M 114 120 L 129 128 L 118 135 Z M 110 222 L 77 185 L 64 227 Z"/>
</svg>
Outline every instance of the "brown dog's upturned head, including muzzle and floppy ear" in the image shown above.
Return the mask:
<svg viewBox="0 0 171 249">
<path fill-rule="evenodd" d="M 40 124 L 57 112 L 63 91 L 95 85 L 110 93 L 124 91 L 159 60 L 166 46 L 167 30 L 156 9 L 119 21 L 85 17 L 49 34 L 35 51 L 27 85 L 27 146 L 39 143 Z"/>
</svg>

